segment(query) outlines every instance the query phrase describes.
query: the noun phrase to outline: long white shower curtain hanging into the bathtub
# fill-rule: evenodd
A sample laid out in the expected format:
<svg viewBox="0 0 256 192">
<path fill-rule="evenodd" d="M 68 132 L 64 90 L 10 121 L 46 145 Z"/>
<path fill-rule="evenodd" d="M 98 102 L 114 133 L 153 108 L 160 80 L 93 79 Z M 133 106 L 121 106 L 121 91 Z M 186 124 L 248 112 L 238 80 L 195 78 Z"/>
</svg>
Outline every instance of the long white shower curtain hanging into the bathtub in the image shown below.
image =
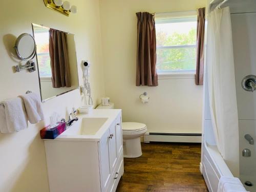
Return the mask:
<svg viewBox="0 0 256 192">
<path fill-rule="evenodd" d="M 229 7 L 208 15 L 207 65 L 212 127 L 220 154 L 239 176 L 239 129 Z"/>
</svg>

